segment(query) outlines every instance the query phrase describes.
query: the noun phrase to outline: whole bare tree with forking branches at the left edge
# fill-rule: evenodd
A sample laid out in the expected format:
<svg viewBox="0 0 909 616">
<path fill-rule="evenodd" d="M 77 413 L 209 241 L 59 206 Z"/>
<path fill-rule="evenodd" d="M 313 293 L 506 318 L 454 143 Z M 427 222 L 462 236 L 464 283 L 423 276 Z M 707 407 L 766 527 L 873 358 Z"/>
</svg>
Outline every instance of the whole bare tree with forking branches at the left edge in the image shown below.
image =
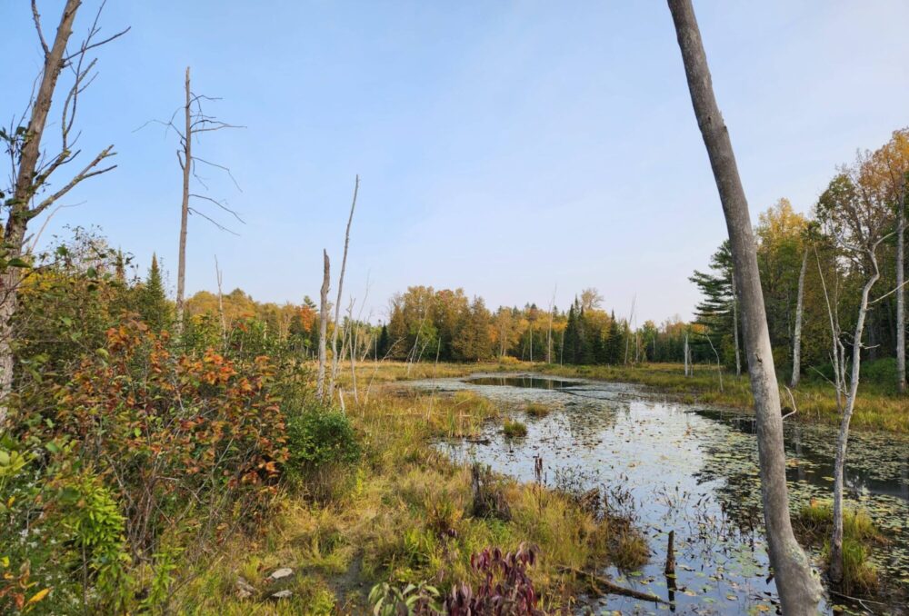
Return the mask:
<svg viewBox="0 0 909 616">
<path fill-rule="evenodd" d="M 79 97 L 98 75 L 95 70 L 97 59 L 90 57 L 90 52 L 129 31 L 126 28 L 115 35 L 101 37 L 98 21 L 104 9 L 102 2 L 85 38 L 75 51 L 71 51 L 70 37 L 81 5 L 81 0 L 66 1 L 54 39 L 48 45 L 41 15 L 35 0 L 32 0 L 32 17 L 44 62 L 25 111 L 8 128 L 0 129 L 0 141 L 4 143 L 11 167 L 9 188 L 0 190 L 0 200 L 8 210 L 0 244 L 0 430 L 7 415 L 6 397 L 13 387 L 15 362 L 12 343 L 15 333 L 12 321 L 18 308 L 19 285 L 31 262 L 28 226 L 76 185 L 116 167 L 106 163 L 115 155 L 114 146 L 108 145 L 87 164 L 77 167 L 79 171 L 75 174 L 59 178 L 66 165 L 73 163 L 82 153 L 77 147 L 80 133 L 76 131 L 74 134 L 73 129 Z M 66 94 L 63 107 L 58 110 L 59 141 L 48 144 L 52 137 L 45 134 L 45 127 L 61 75 L 65 75 L 68 87 L 62 89 Z M 52 179 L 59 186 L 53 192 L 48 190 Z"/>
</svg>

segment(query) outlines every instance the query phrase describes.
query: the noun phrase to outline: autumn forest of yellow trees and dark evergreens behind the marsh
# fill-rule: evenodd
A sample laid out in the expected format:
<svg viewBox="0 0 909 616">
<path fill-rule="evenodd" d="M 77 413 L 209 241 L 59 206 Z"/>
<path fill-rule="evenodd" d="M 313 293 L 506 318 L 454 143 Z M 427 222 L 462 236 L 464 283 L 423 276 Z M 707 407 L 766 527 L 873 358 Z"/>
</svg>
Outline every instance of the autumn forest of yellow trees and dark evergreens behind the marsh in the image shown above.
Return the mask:
<svg viewBox="0 0 909 616">
<path fill-rule="evenodd" d="M 851 208 L 878 217 L 884 240 L 875 257 L 880 280 L 875 284 L 867 323 L 866 359 L 887 359 L 878 370 L 894 371 L 896 355 L 897 204 L 903 187 L 889 169 L 909 161 L 909 130 L 894 132 L 874 152 L 859 154 L 854 164 L 838 170 L 812 208 L 798 214 L 786 199 L 760 214 L 755 228 L 758 263 L 764 288 L 774 359 L 779 370 L 791 372 L 796 329 L 801 330 L 800 358 L 804 373 L 828 373 L 831 364 L 831 317 L 840 331 L 851 331 L 862 286 L 869 275 L 868 258 L 849 249 Z M 889 235 L 888 235 L 889 233 Z M 703 295 L 695 318 L 677 316 L 663 323 L 638 323 L 634 313 L 616 313 L 594 288 L 579 291 L 567 307 L 537 303 L 491 310 L 483 298 L 464 289 L 412 286 L 391 298 L 387 322 L 366 323 L 347 311 L 343 318 L 344 356 L 358 360 L 478 362 L 514 357 L 547 363 L 597 364 L 684 362 L 685 341 L 693 363 L 721 363 L 744 370 L 736 353 L 741 323 L 735 310 L 733 263 L 728 243 L 711 255 L 705 272 L 691 281 Z M 800 293 L 800 280 L 801 290 Z M 802 323 L 798 328 L 801 297 Z M 876 301 L 875 301 L 876 298 Z M 623 298 L 623 303 L 629 298 Z M 200 335 L 221 331 L 216 293 L 195 293 L 186 302 L 187 326 Z M 313 356 L 318 345 L 319 314 L 306 297 L 298 305 L 257 303 L 240 289 L 221 298 L 229 325 L 244 322 L 288 353 Z M 614 305 L 614 304 L 613 304 Z M 829 307 L 829 310 L 828 310 Z M 329 330 L 334 323 L 329 324 Z M 230 329 L 228 327 L 227 329 Z M 874 370 L 870 364 L 869 370 Z M 894 376 L 895 378 L 895 376 Z"/>
</svg>

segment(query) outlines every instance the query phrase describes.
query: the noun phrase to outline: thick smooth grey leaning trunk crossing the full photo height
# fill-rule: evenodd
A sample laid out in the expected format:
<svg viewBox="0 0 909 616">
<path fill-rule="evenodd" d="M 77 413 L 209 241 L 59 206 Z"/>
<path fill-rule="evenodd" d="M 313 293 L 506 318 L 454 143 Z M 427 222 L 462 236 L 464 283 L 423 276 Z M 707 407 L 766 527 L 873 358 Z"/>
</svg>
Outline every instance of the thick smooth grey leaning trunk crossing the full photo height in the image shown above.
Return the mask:
<svg viewBox="0 0 909 616">
<path fill-rule="evenodd" d="M 774 355 L 770 347 L 748 202 L 735 164 L 732 142 L 714 97 L 710 69 L 691 0 L 668 0 L 668 4 L 682 52 L 694 115 L 704 137 L 729 231 L 734 276 L 742 305 L 744 347 L 757 416 L 764 524 L 776 588 L 787 616 L 815 614 L 821 598 L 821 585 L 812 575 L 811 564 L 795 541 L 789 517 L 780 392 L 774 372 Z"/>
</svg>

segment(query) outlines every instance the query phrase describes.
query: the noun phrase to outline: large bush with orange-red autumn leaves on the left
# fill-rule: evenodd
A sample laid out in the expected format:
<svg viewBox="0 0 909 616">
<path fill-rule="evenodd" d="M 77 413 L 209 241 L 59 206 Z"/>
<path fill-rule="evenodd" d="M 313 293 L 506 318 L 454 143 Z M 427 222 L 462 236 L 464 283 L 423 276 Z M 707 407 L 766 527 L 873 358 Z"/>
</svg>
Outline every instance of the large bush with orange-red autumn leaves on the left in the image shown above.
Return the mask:
<svg viewBox="0 0 909 616">
<path fill-rule="evenodd" d="M 168 532 L 202 547 L 235 530 L 233 520 L 255 521 L 288 457 L 266 358 L 173 355 L 167 341 L 133 320 L 109 329 L 55 389 L 55 409 L 22 422 L 25 439 L 74 442 L 81 463 L 115 488 L 136 562 L 151 560 Z M 205 522 L 185 523 L 195 516 Z"/>
</svg>

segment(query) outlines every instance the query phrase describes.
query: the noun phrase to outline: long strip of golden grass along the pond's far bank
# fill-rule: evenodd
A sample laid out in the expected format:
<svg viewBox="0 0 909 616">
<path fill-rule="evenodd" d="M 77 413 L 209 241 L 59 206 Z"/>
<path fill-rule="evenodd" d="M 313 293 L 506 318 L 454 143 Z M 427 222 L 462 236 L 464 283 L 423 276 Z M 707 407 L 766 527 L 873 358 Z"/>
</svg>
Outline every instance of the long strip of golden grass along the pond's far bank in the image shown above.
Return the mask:
<svg viewBox="0 0 909 616">
<path fill-rule="evenodd" d="M 754 399 L 747 374 L 736 377 L 720 375 L 713 367 L 697 366 L 691 376 L 684 375 L 684 367 L 676 363 L 646 363 L 629 366 L 593 365 L 560 366 L 557 364 L 517 362 L 504 363 L 406 363 L 384 362 L 376 370 L 366 363 L 357 367 L 357 384 L 361 392 L 369 384 L 465 376 L 479 372 L 535 372 L 566 377 L 583 377 L 614 383 L 635 383 L 653 388 L 679 402 L 710 404 L 751 411 Z M 345 390 L 350 390 L 349 367 L 344 372 Z M 781 382 L 782 384 L 782 382 Z M 794 420 L 839 425 L 833 387 L 821 380 L 805 380 L 790 392 L 781 389 L 784 407 L 795 402 Z M 887 391 L 877 383 L 861 383 L 859 398 L 855 403 L 852 427 L 856 430 L 883 430 L 909 433 L 909 397 Z"/>
</svg>

